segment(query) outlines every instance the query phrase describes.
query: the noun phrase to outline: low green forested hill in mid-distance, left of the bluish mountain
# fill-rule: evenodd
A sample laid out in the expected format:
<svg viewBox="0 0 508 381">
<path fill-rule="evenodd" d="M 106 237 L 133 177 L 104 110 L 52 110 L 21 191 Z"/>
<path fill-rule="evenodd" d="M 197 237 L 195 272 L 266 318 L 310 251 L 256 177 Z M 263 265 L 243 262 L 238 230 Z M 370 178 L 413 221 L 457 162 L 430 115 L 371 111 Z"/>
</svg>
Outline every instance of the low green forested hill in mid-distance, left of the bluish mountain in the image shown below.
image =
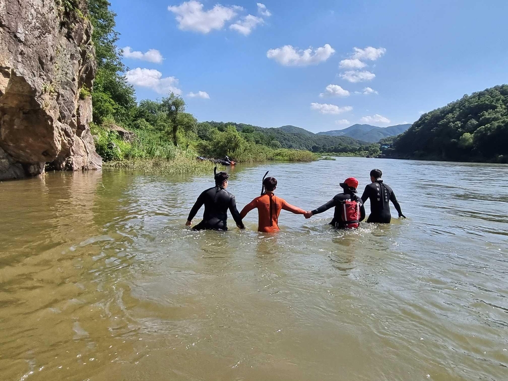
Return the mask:
<svg viewBox="0 0 508 381">
<path fill-rule="evenodd" d="M 233 125 L 244 136 L 248 136 L 249 140 L 273 148 L 307 149 L 313 152 L 356 152 L 360 147 L 368 146 L 353 138 L 316 135 L 292 125 L 281 128 L 262 128 L 251 124 L 215 121 L 202 122 L 199 125 L 198 129 L 203 131 L 210 127 L 223 131 L 226 126 Z"/>
</svg>

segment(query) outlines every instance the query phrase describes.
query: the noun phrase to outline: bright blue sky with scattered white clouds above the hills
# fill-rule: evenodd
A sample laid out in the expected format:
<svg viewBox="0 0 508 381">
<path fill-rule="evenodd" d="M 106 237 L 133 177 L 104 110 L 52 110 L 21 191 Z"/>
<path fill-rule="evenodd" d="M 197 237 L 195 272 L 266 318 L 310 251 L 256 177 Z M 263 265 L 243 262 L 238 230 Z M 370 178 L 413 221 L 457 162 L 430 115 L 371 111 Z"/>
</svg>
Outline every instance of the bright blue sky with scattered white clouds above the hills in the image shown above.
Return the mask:
<svg viewBox="0 0 508 381">
<path fill-rule="evenodd" d="M 505 0 L 110 1 L 138 100 L 200 121 L 386 126 L 508 82 Z"/>
</svg>

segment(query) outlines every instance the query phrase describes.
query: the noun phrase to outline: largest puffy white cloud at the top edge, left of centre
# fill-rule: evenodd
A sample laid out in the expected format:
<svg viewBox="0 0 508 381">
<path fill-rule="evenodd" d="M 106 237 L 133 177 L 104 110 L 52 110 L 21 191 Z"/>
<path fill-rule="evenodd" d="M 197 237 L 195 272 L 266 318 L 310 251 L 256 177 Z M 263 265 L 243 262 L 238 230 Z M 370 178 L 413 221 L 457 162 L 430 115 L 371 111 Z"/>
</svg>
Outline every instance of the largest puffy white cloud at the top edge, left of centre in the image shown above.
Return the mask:
<svg viewBox="0 0 508 381">
<path fill-rule="evenodd" d="M 179 29 L 206 34 L 213 29 L 222 29 L 226 21 L 232 20 L 237 14 L 236 11 L 243 8 L 238 6 L 228 8 L 217 4 L 212 9 L 203 11 L 203 4 L 190 0 L 179 6 L 170 6 L 168 10 L 176 15 Z"/>
</svg>

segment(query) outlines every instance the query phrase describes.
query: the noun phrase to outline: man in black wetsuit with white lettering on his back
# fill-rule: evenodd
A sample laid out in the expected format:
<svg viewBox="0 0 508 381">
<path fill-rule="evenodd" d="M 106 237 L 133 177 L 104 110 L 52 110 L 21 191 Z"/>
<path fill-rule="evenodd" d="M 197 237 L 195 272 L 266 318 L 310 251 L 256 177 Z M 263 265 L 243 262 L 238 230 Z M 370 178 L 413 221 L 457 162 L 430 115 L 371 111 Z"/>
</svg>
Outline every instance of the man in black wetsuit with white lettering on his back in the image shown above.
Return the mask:
<svg viewBox="0 0 508 381">
<path fill-rule="evenodd" d="M 370 215 L 367 222 L 390 224 L 392 220 L 390 201 L 395 206 L 395 209 L 397 209 L 399 218 L 406 218 L 406 216 L 402 214 L 393 189 L 383 182 L 381 176 L 383 176 L 383 172 L 380 169 L 373 169 L 370 171 L 370 181 L 372 181 L 372 183 L 365 187 L 365 191 L 362 195 L 362 201 L 364 203 L 367 199 L 370 200 Z"/>
</svg>

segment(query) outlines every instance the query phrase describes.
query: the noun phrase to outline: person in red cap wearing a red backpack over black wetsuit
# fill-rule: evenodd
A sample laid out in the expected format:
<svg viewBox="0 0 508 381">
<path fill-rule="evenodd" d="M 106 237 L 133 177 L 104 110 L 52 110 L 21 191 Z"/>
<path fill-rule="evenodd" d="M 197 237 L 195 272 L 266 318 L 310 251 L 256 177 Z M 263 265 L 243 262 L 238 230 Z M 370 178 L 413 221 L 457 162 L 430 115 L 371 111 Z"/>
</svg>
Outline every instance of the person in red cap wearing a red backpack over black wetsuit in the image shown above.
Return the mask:
<svg viewBox="0 0 508 381">
<path fill-rule="evenodd" d="M 344 189 L 343 193 L 339 193 L 332 200 L 328 201 L 325 205 L 320 206 L 317 209 L 312 210 L 311 212 L 305 213 L 305 218 L 310 218 L 315 214 L 323 213 L 330 208 L 335 207 L 335 212 L 333 215 L 333 219 L 330 225 L 333 225 L 339 229 L 356 229 L 360 226 L 361 221 L 365 219 L 365 207 L 363 206 L 363 201 L 360 199 L 356 193 L 356 188 L 358 187 L 358 180 L 354 177 L 347 178 L 344 182 L 340 183 L 342 189 Z M 356 201 L 358 203 L 359 215 L 358 220 L 347 220 L 348 217 L 345 214 L 345 202 L 346 201 Z"/>
</svg>

